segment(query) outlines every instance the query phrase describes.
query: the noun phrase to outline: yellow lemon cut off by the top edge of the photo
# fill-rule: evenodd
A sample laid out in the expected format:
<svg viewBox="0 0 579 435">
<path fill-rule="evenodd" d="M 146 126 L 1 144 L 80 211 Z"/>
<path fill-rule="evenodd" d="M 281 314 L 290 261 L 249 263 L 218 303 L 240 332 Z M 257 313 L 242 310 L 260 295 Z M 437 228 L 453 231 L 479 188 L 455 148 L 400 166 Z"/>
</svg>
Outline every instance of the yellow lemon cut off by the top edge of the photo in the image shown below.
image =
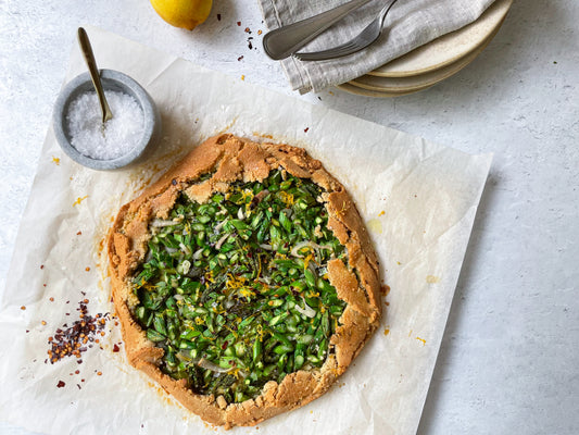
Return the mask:
<svg viewBox="0 0 579 435">
<path fill-rule="evenodd" d="M 175 27 L 192 30 L 211 12 L 213 0 L 151 0 L 156 13 Z"/>
</svg>

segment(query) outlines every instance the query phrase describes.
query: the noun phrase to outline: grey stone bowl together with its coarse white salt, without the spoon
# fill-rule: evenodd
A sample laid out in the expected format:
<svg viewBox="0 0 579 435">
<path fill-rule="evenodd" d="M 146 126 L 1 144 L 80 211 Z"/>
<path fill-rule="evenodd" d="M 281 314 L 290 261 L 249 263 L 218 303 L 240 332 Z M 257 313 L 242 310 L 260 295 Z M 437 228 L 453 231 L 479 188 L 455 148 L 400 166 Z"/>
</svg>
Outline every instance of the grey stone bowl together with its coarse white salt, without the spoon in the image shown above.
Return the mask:
<svg viewBox="0 0 579 435">
<path fill-rule="evenodd" d="M 63 151 L 93 170 L 115 170 L 138 161 L 161 134 L 153 99 L 133 78 L 101 70 L 104 95 L 113 119 L 102 113 L 88 73 L 71 80 L 54 105 L 53 126 Z"/>
</svg>

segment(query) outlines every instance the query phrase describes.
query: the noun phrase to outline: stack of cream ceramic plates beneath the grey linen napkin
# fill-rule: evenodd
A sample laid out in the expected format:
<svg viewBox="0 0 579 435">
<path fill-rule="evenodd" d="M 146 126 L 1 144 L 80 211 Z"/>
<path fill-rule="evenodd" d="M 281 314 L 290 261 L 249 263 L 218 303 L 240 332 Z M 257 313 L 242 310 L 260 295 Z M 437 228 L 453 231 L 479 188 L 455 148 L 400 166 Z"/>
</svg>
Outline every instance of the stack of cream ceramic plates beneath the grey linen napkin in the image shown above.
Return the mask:
<svg viewBox="0 0 579 435">
<path fill-rule="evenodd" d="M 476 22 L 338 87 L 368 97 L 426 89 L 473 62 L 496 35 L 512 4 L 513 0 L 496 0 Z"/>
</svg>

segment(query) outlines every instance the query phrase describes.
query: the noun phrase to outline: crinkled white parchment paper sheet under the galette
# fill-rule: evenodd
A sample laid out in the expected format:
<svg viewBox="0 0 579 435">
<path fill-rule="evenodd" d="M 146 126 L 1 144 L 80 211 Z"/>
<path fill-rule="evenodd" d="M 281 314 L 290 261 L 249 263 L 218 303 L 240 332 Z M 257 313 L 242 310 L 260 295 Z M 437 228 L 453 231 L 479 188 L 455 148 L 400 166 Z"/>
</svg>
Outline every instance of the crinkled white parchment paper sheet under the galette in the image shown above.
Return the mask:
<svg viewBox="0 0 579 435">
<path fill-rule="evenodd" d="M 111 173 L 72 162 L 49 128 L 0 306 L 0 419 L 59 435 L 215 433 L 130 368 L 123 346 L 111 350 L 119 341 L 114 323 L 103 349 L 89 349 L 83 364 L 45 359 L 48 337 L 77 319 L 79 300 L 90 300 L 91 313 L 113 310 L 99 241 L 116 210 L 191 147 L 231 132 L 303 146 L 320 159 L 356 201 L 391 287 L 380 328 L 336 387 L 259 433 L 414 434 L 491 157 L 277 95 L 96 28 L 89 35 L 101 67 L 149 90 L 164 135 L 146 163 Z M 84 71 L 75 47 L 66 80 Z M 56 388 L 60 380 L 65 387 Z"/>
</svg>

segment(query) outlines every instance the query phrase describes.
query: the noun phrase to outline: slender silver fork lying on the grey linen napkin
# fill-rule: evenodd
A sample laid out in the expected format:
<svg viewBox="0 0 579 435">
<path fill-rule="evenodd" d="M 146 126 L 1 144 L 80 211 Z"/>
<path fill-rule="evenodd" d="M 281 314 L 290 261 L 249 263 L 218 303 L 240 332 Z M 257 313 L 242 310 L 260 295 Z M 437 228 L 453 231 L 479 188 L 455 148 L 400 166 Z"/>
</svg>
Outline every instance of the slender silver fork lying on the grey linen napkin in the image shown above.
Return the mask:
<svg viewBox="0 0 579 435">
<path fill-rule="evenodd" d="M 379 36 L 382 34 L 382 30 L 383 30 L 382 26 L 383 26 L 386 15 L 388 15 L 388 12 L 390 12 L 390 9 L 394 5 L 397 1 L 398 0 L 392 0 L 390 4 L 387 4 L 380 11 L 378 16 L 374 18 L 351 41 L 342 44 L 341 46 L 330 48 L 328 50 L 315 51 L 315 52 L 309 52 L 309 53 L 293 53 L 293 57 L 295 57 L 297 59 L 301 61 L 324 61 L 327 59 L 341 58 L 341 57 L 352 54 L 360 50 L 365 49 L 370 44 L 376 41 L 376 39 L 378 39 Z"/>
</svg>

